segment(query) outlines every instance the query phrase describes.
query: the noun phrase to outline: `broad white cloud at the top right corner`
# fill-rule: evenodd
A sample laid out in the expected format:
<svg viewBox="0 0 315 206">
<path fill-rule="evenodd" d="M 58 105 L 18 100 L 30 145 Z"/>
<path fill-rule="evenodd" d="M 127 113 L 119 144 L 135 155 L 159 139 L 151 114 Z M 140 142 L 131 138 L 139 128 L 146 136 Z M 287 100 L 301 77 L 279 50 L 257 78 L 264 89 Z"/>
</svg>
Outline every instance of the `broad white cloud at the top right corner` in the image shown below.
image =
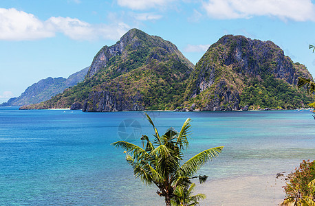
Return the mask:
<svg viewBox="0 0 315 206">
<path fill-rule="evenodd" d="M 276 16 L 282 20 L 315 21 L 311 0 L 208 0 L 202 5 L 215 19 Z"/>
</svg>

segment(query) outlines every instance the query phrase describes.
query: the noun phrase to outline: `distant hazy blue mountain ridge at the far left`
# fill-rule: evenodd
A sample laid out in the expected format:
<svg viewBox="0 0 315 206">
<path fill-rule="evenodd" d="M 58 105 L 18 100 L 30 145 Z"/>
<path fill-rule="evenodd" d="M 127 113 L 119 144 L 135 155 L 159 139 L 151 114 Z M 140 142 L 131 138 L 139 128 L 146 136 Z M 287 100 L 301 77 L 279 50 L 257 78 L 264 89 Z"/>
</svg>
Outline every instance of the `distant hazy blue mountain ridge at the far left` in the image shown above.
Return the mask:
<svg viewBox="0 0 315 206">
<path fill-rule="evenodd" d="M 49 100 L 52 96 L 62 93 L 63 90 L 73 87 L 82 82 L 87 74 L 89 67 L 82 69 L 66 78 L 45 78 L 32 86 L 25 89 L 25 91 L 18 98 L 11 98 L 8 102 L 0 104 L 0 106 L 25 106 L 29 104 L 36 104 Z"/>
</svg>

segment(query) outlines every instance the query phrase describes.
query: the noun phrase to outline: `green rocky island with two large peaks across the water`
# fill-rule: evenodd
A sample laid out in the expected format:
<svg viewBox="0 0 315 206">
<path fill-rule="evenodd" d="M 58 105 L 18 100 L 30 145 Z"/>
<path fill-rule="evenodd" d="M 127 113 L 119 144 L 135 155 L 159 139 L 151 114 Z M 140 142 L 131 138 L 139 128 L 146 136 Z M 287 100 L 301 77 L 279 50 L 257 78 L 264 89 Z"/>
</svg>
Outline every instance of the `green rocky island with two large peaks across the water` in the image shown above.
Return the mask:
<svg viewBox="0 0 315 206">
<path fill-rule="evenodd" d="M 290 109 L 312 98 L 296 87 L 312 75 L 271 41 L 226 35 L 194 66 L 159 36 L 129 30 L 102 47 L 83 82 L 50 100 L 21 109 L 83 111 L 235 111 Z"/>
</svg>

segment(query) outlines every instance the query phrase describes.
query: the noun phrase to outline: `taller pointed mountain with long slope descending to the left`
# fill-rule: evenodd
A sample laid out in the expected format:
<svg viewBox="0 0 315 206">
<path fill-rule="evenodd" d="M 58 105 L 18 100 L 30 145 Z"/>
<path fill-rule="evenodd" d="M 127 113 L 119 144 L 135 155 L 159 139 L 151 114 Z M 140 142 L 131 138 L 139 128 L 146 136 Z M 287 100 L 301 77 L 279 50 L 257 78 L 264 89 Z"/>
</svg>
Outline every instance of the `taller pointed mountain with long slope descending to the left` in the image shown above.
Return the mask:
<svg viewBox="0 0 315 206">
<path fill-rule="evenodd" d="M 83 111 L 173 109 L 182 103 L 193 64 L 159 36 L 129 30 L 120 41 L 100 49 L 85 80 L 52 99 L 25 106 Z"/>
</svg>

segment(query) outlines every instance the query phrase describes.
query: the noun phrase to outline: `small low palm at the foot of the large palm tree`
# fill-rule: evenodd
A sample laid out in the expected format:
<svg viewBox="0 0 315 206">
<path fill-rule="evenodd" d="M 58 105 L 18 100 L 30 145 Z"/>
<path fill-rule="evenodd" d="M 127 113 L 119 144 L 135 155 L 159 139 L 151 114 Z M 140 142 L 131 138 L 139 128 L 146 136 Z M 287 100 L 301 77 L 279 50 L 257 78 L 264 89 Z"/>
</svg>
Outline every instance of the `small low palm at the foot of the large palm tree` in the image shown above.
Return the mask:
<svg viewBox="0 0 315 206">
<path fill-rule="evenodd" d="M 199 204 L 199 200 L 204 200 L 206 198 L 205 194 L 195 194 L 193 195 L 194 187 L 196 186 L 195 183 L 192 183 L 190 186 L 186 187 L 176 187 L 174 191 L 175 196 L 171 198 L 172 205 L 179 205 L 179 206 L 194 206 Z"/>
</svg>

